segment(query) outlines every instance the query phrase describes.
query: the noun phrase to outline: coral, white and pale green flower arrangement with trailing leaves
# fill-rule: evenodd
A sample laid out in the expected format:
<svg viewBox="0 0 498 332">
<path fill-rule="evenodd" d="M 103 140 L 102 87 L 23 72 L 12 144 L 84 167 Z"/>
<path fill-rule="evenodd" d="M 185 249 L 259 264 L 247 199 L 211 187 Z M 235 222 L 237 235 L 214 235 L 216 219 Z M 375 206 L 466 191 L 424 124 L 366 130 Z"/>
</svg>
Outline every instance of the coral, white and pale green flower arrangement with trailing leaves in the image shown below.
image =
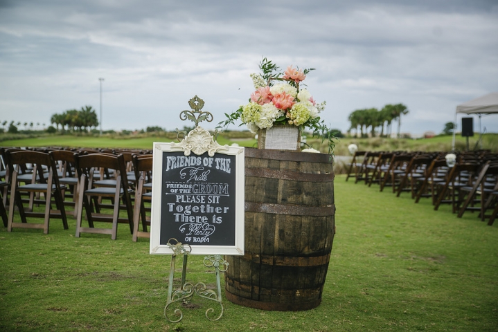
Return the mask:
<svg viewBox="0 0 498 332">
<path fill-rule="evenodd" d="M 335 136 L 319 117 L 326 102 L 317 103 L 308 89 L 299 86 L 314 68 L 288 66 L 280 73 L 278 66 L 266 57 L 259 67 L 262 73 L 251 74 L 255 91 L 251 93 L 249 103 L 231 114 L 225 113 L 227 120 L 220 122 L 218 127 L 226 127 L 239 119 L 252 133 L 275 124 L 296 126 L 301 130 L 308 127 L 313 135 L 321 136 L 322 141 L 328 139 L 329 152 L 332 152 Z"/>
</svg>

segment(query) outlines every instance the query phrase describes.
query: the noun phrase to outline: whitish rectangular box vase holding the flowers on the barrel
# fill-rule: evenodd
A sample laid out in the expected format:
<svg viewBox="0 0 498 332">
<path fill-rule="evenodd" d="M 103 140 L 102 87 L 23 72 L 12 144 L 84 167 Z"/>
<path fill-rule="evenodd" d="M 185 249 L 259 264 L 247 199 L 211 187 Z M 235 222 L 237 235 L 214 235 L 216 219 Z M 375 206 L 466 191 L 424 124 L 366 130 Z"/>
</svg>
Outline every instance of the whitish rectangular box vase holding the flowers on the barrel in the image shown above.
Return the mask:
<svg viewBox="0 0 498 332">
<path fill-rule="evenodd" d="M 301 131 L 296 126 L 278 124 L 258 129 L 258 149 L 301 151 Z"/>
</svg>

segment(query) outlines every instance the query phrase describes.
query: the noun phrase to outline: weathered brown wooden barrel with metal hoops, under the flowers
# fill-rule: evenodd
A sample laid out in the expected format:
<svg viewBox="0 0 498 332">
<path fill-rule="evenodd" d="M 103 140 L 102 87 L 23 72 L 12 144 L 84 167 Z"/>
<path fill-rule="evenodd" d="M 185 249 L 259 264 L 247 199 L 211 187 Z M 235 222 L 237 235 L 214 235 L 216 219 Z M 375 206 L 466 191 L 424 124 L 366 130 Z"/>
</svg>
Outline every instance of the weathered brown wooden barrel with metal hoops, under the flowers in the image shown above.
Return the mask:
<svg viewBox="0 0 498 332">
<path fill-rule="evenodd" d="M 332 156 L 246 148 L 245 255 L 226 257 L 226 298 L 269 311 L 318 306 L 334 214 Z"/>
</svg>

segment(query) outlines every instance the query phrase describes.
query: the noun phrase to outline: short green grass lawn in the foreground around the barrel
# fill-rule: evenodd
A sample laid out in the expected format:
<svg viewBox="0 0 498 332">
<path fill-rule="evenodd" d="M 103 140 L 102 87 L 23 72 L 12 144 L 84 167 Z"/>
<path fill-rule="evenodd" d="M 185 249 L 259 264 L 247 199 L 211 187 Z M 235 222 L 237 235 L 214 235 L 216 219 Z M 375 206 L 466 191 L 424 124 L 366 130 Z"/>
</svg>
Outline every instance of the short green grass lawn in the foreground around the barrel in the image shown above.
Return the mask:
<svg viewBox="0 0 498 332">
<path fill-rule="evenodd" d="M 75 238 L 71 217 L 69 230 L 53 219 L 47 235 L 0 226 L 0 331 L 498 331 L 498 225 L 345 176 L 335 200 L 321 305 L 271 312 L 224 299 L 217 322 L 196 296 L 179 324 L 163 317 L 170 257 L 149 255 L 127 225 L 116 241 Z M 188 281 L 214 287 L 202 258 L 190 257 Z"/>
</svg>

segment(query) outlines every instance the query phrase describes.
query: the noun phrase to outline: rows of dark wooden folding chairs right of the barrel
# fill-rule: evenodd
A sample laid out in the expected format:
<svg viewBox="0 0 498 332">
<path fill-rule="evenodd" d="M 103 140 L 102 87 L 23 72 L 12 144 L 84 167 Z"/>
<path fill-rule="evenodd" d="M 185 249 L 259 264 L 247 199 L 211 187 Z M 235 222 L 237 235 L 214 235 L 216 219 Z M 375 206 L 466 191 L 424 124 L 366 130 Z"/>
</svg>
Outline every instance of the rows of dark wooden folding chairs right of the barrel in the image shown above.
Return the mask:
<svg viewBox="0 0 498 332">
<path fill-rule="evenodd" d="M 492 225 L 498 214 L 498 154 L 465 152 L 455 155 L 450 166 L 446 156 L 447 152 L 356 151 L 346 181 L 377 183 L 381 192 L 390 186 L 396 196 L 410 192 L 415 203 L 428 197 L 434 210 L 450 203 L 459 217 L 477 211 L 482 221 L 489 218 Z"/>
</svg>

